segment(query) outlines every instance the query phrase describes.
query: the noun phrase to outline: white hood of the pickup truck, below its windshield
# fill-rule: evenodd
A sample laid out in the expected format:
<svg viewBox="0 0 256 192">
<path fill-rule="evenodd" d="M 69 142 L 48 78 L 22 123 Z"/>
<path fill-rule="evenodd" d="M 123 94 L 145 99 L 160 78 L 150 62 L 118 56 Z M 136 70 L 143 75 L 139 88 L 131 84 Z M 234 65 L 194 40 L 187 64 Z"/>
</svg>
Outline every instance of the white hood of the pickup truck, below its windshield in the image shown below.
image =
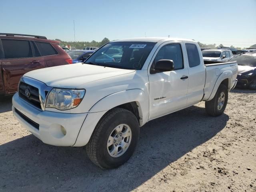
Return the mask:
<svg viewBox="0 0 256 192">
<path fill-rule="evenodd" d="M 88 82 L 132 73 L 134 71 L 77 63 L 38 69 L 30 71 L 24 74 L 24 76 L 44 82 L 50 87 L 77 88 Z"/>
</svg>

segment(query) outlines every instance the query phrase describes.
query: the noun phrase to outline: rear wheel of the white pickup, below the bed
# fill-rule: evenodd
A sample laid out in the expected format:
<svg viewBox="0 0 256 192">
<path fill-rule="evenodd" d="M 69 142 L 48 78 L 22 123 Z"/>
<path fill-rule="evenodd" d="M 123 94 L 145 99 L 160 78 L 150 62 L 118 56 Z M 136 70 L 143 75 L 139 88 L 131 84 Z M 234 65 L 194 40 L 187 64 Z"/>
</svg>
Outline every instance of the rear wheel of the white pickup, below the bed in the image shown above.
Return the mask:
<svg viewBox="0 0 256 192">
<path fill-rule="evenodd" d="M 223 99 L 224 94 L 224 99 Z M 206 113 L 210 116 L 220 116 L 226 109 L 228 103 L 228 88 L 220 84 L 214 98 L 205 102 Z"/>
</svg>

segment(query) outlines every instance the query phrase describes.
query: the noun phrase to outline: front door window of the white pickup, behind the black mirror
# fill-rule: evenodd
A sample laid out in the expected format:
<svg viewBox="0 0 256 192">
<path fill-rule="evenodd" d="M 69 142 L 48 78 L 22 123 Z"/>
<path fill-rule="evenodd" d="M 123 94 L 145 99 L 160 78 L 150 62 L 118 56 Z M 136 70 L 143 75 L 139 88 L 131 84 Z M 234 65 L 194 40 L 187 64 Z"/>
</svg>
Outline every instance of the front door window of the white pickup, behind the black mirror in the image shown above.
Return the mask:
<svg viewBox="0 0 256 192">
<path fill-rule="evenodd" d="M 174 70 L 183 69 L 183 56 L 180 44 L 168 44 L 160 48 L 156 54 L 152 67 L 154 67 L 156 62 L 161 59 L 173 60 Z"/>
</svg>

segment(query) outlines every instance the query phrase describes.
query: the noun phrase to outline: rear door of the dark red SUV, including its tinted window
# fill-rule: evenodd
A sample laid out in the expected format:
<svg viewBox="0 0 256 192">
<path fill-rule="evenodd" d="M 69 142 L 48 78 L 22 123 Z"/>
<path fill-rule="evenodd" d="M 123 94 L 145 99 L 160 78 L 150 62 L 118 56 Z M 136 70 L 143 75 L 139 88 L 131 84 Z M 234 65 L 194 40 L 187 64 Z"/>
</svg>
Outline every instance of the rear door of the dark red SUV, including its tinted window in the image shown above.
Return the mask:
<svg viewBox="0 0 256 192">
<path fill-rule="evenodd" d="M 2 79 L 5 94 L 17 91 L 20 78 L 31 70 L 44 68 L 44 59 L 39 57 L 33 41 L 2 38 L 4 58 Z"/>
</svg>

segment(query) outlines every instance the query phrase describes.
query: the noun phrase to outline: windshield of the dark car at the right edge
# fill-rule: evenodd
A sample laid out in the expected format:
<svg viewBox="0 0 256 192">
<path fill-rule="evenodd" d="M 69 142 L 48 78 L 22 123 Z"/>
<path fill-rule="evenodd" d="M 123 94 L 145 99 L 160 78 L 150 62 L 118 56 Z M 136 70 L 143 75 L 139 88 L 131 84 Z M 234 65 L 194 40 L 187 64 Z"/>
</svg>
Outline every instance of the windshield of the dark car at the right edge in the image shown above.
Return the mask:
<svg viewBox="0 0 256 192">
<path fill-rule="evenodd" d="M 238 65 L 256 67 L 256 54 L 236 55 L 229 62 L 236 61 Z"/>
</svg>

